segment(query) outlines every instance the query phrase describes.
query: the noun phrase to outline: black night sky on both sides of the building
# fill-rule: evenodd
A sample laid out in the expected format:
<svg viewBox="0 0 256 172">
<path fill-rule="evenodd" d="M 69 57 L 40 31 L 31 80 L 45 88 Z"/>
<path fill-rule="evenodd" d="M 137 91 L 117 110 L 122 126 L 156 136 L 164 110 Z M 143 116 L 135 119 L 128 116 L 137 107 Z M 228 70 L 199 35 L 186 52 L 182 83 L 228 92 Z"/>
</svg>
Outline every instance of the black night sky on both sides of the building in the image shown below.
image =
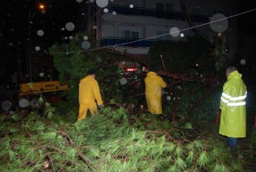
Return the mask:
<svg viewBox="0 0 256 172">
<path fill-rule="evenodd" d="M 0 47 L 1 47 L 1 80 L 6 82 L 8 75 L 16 72 L 17 63 L 26 65 L 24 59 L 28 56 L 29 47 L 29 9 L 31 11 L 32 53 L 35 47 L 41 52 L 48 52 L 48 48 L 56 41 L 65 41 L 65 37 L 81 31 L 79 27 L 73 32 L 62 30 L 67 22 L 78 24 L 82 20 L 80 4 L 76 0 L 2 0 L 0 7 Z M 256 8 L 253 0 L 240 0 L 239 12 Z M 38 8 L 45 5 L 45 13 Z M 256 11 L 238 17 L 238 33 L 246 36 L 256 36 Z M 39 37 L 36 32 L 41 29 L 44 36 Z M 25 70 L 22 69 L 24 72 Z M 4 73 L 3 73 L 4 71 Z"/>
</svg>

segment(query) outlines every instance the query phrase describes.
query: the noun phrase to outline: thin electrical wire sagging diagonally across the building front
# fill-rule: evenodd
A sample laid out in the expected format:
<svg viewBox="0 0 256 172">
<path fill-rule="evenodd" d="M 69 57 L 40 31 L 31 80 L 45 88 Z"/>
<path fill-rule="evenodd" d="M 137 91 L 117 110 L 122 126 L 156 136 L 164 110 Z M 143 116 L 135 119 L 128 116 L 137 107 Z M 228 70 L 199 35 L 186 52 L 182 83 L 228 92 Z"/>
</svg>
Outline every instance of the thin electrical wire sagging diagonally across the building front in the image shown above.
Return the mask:
<svg viewBox="0 0 256 172">
<path fill-rule="evenodd" d="M 221 21 L 221 20 L 225 20 L 225 19 L 228 19 L 228 18 L 233 18 L 233 17 L 236 17 L 236 16 L 240 16 L 242 14 L 245 14 L 245 13 L 248 13 L 248 12 L 252 12 L 256 10 L 256 8 L 252 9 L 252 10 L 248 10 L 246 12 L 242 12 L 242 13 L 239 13 L 239 14 L 235 14 L 233 16 L 229 16 L 229 17 L 226 17 L 226 18 L 222 18 L 222 19 L 219 19 L 219 20 L 214 20 L 212 22 L 208 22 L 208 23 L 204 23 L 204 24 L 200 24 L 200 25 L 197 25 L 197 26 L 193 26 L 193 27 L 190 27 L 190 28 L 186 28 L 186 29 L 182 29 L 182 30 L 177 30 L 177 31 L 174 31 L 174 32 L 170 32 L 170 33 L 167 33 L 167 34 L 162 34 L 162 35 L 158 35 L 158 36 L 153 36 L 153 37 L 150 37 L 150 38 L 144 38 L 144 39 L 141 39 L 141 40 L 136 40 L 136 41 L 131 41 L 131 42 L 126 42 L 126 43 L 123 43 L 123 44 L 117 44 L 117 45 L 112 45 L 112 46 L 104 46 L 104 47 L 100 47 L 100 48 L 93 48 L 93 49 L 89 49 L 89 50 L 80 50 L 80 51 L 70 51 L 70 52 L 52 52 L 52 53 L 45 53 L 45 54 L 66 54 L 66 53 L 76 53 L 76 52 L 88 52 L 88 51 L 93 51 L 93 50 L 101 50 L 101 49 L 104 49 L 104 48 L 109 48 L 109 47 L 116 47 L 116 46 L 122 46 L 122 45 L 126 45 L 126 44 L 131 44 L 131 43 L 135 43 L 135 42 L 139 42 L 139 41 L 143 41 L 143 40 L 149 40 L 149 39 L 153 39 L 153 38 L 158 38 L 160 36 L 165 36 L 165 35 L 169 35 L 169 34 L 173 34 L 173 33 L 177 33 L 177 32 L 182 32 L 182 31 L 185 31 L 185 30 L 190 30 L 192 28 L 198 28 L 198 27 L 201 27 L 201 26 L 205 26 L 205 25 L 208 25 L 208 24 L 211 24 L 211 23 L 215 23 L 215 22 L 218 22 L 218 21 Z"/>
</svg>

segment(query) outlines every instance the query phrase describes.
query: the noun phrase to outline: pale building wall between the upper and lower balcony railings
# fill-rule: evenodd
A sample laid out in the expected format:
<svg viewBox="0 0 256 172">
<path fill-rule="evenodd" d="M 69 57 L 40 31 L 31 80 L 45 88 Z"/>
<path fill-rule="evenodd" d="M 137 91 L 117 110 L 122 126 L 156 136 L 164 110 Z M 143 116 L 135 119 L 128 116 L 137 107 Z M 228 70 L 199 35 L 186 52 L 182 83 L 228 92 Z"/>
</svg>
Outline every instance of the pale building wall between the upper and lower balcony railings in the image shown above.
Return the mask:
<svg viewBox="0 0 256 172">
<path fill-rule="evenodd" d="M 104 37 L 122 37 L 121 30 L 138 30 L 140 32 L 140 38 L 151 38 L 156 36 L 156 31 L 170 31 L 170 28 L 177 27 L 180 30 L 189 28 L 188 23 L 178 20 L 166 20 L 144 16 L 124 16 L 122 14 L 113 16 L 107 14 L 103 16 L 105 21 L 102 24 L 102 38 Z M 171 22 L 170 22 L 171 21 Z M 118 29 L 118 35 L 114 34 L 114 30 Z M 212 36 L 212 32 L 209 26 L 203 26 L 200 28 L 203 32 L 209 32 L 209 36 Z M 193 35 L 192 30 L 186 30 L 185 36 Z M 215 35 L 214 35 L 215 36 Z"/>
</svg>

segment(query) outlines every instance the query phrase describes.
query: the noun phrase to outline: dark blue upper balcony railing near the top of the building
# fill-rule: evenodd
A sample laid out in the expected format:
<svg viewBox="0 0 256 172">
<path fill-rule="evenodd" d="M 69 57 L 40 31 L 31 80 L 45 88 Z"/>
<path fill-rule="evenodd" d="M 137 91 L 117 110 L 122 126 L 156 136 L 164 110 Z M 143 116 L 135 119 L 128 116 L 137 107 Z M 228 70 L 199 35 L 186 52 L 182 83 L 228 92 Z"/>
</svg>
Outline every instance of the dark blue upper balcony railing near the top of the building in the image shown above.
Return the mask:
<svg viewBox="0 0 256 172">
<path fill-rule="evenodd" d="M 113 11 L 117 14 L 133 15 L 133 16 L 150 16 L 156 18 L 163 18 L 168 20 L 181 20 L 185 21 L 185 14 L 183 12 L 175 12 L 169 10 L 156 10 L 153 8 L 129 8 L 127 6 L 110 5 L 108 6 L 108 13 Z M 209 22 L 210 16 L 190 14 L 190 18 L 194 22 Z"/>
</svg>

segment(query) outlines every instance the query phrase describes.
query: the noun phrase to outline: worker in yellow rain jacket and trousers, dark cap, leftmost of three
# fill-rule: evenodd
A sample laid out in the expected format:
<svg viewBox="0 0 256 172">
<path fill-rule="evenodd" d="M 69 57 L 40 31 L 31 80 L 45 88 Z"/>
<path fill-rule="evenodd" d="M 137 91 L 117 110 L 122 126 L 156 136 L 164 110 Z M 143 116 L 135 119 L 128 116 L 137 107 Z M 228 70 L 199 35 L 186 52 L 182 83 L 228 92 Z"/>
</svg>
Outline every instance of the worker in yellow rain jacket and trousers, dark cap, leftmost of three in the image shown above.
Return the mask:
<svg viewBox="0 0 256 172">
<path fill-rule="evenodd" d="M 92 116 L 98 113 L 98 106 L 102 107 L 103 102 L 100 95 L 100 88 L 98 82 L 95 80 L 95 72 L 88 70 L 88 76 L 80 80 L 79 84 L 79 115 L 78 121 L 84 120 L 88 109 Z M 97 101 L 97 104 L 95 102 Z"/>
</svg>

